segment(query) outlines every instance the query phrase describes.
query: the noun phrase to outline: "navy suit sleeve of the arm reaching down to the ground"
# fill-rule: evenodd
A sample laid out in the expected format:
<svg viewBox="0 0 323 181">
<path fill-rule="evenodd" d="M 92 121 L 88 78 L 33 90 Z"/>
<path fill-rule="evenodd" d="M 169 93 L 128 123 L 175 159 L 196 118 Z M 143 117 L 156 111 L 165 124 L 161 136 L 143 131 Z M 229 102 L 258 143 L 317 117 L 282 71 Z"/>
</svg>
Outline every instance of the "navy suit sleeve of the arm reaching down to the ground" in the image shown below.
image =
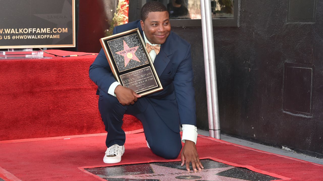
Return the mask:
<svg viewBox="0 0 323 181">
<path fill-rule="evenodd" d="M 185 58 L 180 63 L 173 80 L 180 124 L 196 126 L 195 90 L 193 87 L 193 69 L 191 58 L 191 45 L 189 45 Z"/>
</svg>

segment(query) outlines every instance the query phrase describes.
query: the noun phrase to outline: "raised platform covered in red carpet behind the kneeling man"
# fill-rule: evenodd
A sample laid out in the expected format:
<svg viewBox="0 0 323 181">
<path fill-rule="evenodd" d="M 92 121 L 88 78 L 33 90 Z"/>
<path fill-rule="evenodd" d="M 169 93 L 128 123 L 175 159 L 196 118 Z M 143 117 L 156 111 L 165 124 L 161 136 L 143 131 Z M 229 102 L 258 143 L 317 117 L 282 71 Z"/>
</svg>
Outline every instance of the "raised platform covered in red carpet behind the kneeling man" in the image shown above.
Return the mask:
<svg viewBox="0 0 323 181">
<path fill-rule="evenodd" d="M 0 60 L 0 141 L 104 133 L 97 86 L 89 79 L 95 57 Z M 124 117 L 125 131 L 141 128 L 138 119 Z"/>
</svg>

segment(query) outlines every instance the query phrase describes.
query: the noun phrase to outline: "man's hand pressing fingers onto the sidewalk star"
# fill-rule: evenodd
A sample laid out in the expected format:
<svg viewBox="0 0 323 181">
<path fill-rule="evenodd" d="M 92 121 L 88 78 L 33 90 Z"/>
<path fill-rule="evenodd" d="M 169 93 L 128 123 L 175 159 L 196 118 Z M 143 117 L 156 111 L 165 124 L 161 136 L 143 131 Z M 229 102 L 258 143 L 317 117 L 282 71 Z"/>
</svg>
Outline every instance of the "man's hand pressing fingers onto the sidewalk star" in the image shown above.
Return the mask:
<svg viewBox="0 0 323 181">
<path fill-rule="evenodd" d="M 185 163 L 187 171 L 190 171 L 190 162 L 192 163 L 192 167 L 194 171 L 197 171 L 197 169 L 202 170 L 202 168 L 204 168 L 200 162 L 200 158 L 197 154 L 195 143 L 193 141 L 185 140 L 185 145 L 182 150 L 181 157 L 182 157 L 181 166 L 183 166 Z"/>
</svg>

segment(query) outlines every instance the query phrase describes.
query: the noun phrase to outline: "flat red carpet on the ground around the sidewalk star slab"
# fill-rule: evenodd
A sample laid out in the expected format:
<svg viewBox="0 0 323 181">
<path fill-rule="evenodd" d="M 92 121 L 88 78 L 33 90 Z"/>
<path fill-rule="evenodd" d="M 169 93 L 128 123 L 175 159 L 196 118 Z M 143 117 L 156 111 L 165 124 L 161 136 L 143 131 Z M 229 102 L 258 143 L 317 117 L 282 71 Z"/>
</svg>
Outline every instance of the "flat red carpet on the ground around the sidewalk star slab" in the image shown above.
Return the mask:
<svg viewBox="0 0 323 181">
<path fill-rule="evenodd" d="M 9 180 L 95 181 L 98 179 L 84 173 L 78 167 L 107 166 L 102 162 L 106 150 L 104 142 L 105 136 L 20 143 L 0 142 L 0 167 L 7 175 L 9 173 L 15 176 Z M 120 164 L 165 161 L 147 148 L 142 133 L 127 135 L 125 148 Z M 293 181 L 323 180 L 322 165 L 238 146 L 222 140 L 199 136 L 197 149 L 200 157 L 214 157 L 225 162 L 254 167 L 291 178 Z M 4 176 L 3 169 L 0 169 L 0 177 Z"/>
</svg>

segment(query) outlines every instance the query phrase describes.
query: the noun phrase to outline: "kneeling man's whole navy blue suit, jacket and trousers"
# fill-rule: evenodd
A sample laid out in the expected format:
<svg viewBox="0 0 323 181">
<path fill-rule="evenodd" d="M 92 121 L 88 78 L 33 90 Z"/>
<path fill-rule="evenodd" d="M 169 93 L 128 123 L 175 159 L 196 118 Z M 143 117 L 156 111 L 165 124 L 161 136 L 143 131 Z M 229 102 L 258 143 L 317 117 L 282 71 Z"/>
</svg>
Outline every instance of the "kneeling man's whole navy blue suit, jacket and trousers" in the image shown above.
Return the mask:
<svg viewBox="0 0 323 181">
<path fill-rule="evenodd" d="M 135 28 L 139 28 L 143 37 L 140 20 L 117 26 L 113 33 Z M 108 131 L 107 147 L 124 144 L 122 118 L 123 114 L 130 114 L 141 120 L 146 140 L 155 154 L 176 158 L 182 148 L 180 125 L 196 126 L 191 45 L 171 32 L 153 64 L 163 90 L 139 98 L 129 106 L 122 106 L 116 97 L 108 94 L 116 80 L 102 49 L 90 66 L 89 76 L 98 85 L 99 111 Z"/>
</svg>

